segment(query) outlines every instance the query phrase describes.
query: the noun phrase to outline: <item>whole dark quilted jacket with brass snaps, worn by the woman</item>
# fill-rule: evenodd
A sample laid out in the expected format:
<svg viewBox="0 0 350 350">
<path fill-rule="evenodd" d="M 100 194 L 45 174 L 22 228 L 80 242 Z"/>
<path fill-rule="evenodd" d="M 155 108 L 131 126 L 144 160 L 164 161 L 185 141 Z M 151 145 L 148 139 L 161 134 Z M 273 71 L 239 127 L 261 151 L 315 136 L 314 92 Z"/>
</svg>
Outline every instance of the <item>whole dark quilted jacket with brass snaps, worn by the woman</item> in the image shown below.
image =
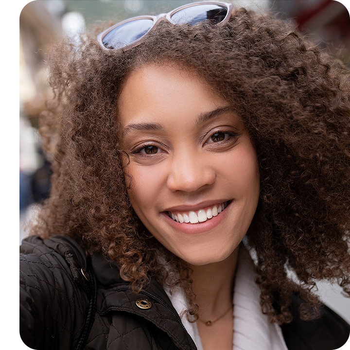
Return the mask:
<svg viewBox="0 0 350 350">
<path fill-rule="evenodd" d="M 67 236 L 33 236 L 20 250 L 20 335 L 30 348 L 196 349 L 156 281 L 133 293 L 115 266 L 101 256 L 87 262 Z M 333 350 L 347 341 L 350 327 L 324 307 L 320 319 L 303 322 L 296 316 L 282 331 L 290 350 Z"/>
</svg>

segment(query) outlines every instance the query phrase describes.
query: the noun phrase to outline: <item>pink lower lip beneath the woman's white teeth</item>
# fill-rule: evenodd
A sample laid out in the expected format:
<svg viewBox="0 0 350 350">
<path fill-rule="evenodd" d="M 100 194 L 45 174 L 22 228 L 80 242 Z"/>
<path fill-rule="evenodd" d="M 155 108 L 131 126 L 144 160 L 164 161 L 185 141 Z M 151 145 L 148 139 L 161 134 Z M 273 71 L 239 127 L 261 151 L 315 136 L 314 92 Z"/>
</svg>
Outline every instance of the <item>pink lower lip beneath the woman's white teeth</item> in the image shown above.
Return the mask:
<svg viewBox="0 0 350 350">
<path fill-rule="evenodd" d="M 178 223 L 177 221 L 173 220 L 167 212 L 162 212 L 161 214 L 163 215 L 164 220 L 175 228 L 176 231 L 185 233 L 185 234 L 201 234 L 201 233 L 206 233 L 216 226 L 218 226 L 227 216 L 228 213 L 228 208 L 231 206 L 232 202 L 225 208 L 225 210 L 221 211 L 216 216 L 213 216 L 211 219 L 208 219 L 207 221 L 204 221 L 202 223 L 196 223 L 196 224 L 191 224 L 191 223 Z"/>
</svg>

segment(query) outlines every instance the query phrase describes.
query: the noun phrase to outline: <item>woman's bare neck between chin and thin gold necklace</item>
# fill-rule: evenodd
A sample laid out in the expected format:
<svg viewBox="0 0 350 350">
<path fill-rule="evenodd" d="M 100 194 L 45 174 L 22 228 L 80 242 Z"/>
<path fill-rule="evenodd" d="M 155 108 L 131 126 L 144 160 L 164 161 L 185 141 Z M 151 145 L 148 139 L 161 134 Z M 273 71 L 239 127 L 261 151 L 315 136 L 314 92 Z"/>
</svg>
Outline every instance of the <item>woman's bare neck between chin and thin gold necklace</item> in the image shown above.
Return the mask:
<svg viewBox="0 0 350 350">
<path fill-rule="evenodd" d="M 221 315 L 232 305 L 233 281 L 238 258 L 238 247 L 221 262 L 191 266 L 192 288 L 203 320 Z"/>
</svg>

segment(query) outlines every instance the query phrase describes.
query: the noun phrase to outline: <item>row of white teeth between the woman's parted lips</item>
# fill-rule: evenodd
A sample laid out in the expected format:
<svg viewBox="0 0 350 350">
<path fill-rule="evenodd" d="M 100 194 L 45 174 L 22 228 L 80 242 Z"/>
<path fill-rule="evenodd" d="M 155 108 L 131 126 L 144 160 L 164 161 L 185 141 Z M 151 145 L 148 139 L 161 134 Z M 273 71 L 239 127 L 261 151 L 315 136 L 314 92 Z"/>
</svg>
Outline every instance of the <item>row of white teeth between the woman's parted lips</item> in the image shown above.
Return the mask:
<svg viewBox="0 0 350 350">
<path fill-rule="evenodd" d="M 227 208 L 230 201 L 214 204 L 210 207 L 202 208 L 194 211 L 168 211 L 168 215 L 176 222 L 182 224 L 198 224 L 210 220 L 219 215 L 225 208 Z"/>
</svg>

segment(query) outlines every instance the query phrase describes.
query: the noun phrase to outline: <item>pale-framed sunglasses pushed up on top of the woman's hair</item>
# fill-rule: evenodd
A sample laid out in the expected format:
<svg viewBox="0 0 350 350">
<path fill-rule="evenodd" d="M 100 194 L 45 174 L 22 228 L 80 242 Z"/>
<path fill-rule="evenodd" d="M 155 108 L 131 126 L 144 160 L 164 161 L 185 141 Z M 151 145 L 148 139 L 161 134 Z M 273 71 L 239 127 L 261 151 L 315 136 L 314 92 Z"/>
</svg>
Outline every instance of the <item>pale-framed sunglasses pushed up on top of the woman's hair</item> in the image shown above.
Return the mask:
<svg viewBox="0 0 350 350">
<path fill-rule="evenodd" d="M 193 2 L 158 16 L 138 16 L 123 20 L 97 36 L 105 50 L 131 49 L 144 41 L 145 36 L 157 24 L 166 20 L 173 24 L 194 25 L 209 21 L 223 25 L 232 15 L 233 5 L 226 2 Z"/>
</svg>

